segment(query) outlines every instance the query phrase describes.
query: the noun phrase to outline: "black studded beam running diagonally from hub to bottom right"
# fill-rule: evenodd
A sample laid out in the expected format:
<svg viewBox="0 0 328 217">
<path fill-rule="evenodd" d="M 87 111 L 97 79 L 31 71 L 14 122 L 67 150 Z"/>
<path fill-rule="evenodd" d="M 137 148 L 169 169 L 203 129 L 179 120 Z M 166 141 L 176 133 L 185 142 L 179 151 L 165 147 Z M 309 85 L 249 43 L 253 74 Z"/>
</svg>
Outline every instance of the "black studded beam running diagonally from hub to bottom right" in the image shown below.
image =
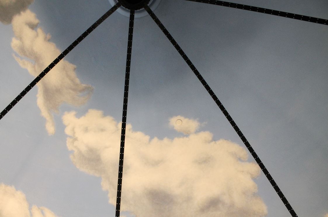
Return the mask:
<svg viewBox="0 0 328 217">
<path fill-rule="evenodd" d="M 189 60 L 189 58 L 187 57 L 187 55 L 183 52 L 183 50 L 181 49 L 181 47 L 176 43 L 176 41 L 174 40 L 174 38 L 171 36 L 171 34 L 168 32 L 168 30 L 163 26 L 163 24 L 159 21 L 159 19 L 156 17 L 156 15 L 154 14 L 154 12 L 148 7 L 145 6 L 144 7 L 147 12 L 149 13 L 149 15 L 153 18 L 153 20 L 155 21 L 155 23 L 157 24 L 157 26 L 163 31 L 163 33 L 166 35 L 166 37 L 170 40 L 170 42 L 172 43 L 172 45 L 175 47 L 175 49 L 179 52 L 179 54 L 181 55 L 181 57 L 186 61 L 186 63 L 189 65 L 189 67 L 193 70 L 193 72 L 195 73 L 195 75 L 197 76 L 197 78 L 199 79 L 199 81 L 204 85 L 205 89 L 207 90 L 207 92 L 211 95 L 211 97 L 214 99 L 215 103 L 218 105 L 218 107 L 221 109 L 221 111 L 223 112 L 224 116 L 228 119 L 228 121 L 230 122 L 231 126 L 233 126 L 233 128 L 235 129 L 236 133 L 238 134 L 238 136 L 241 138 L 241 140 L 244 142 L 245 146 L 247 147 L 247 149 L 249 150 L 249 152 L 252 154 L 252 156 L 254 157 L 256 163 L 260 166 L 260 168 L 262 169 L 263 173 L 265 174 L 265 176 L 268 178 L 268 180 L 270 181 L 272 187 L 276 190 L 277 194 L 279 195 L 281 201 L 284 203 L 284 205 L 286 206 L 286 208 L 288 209 L 288 211 L 290 212 L 290 214 L 293 217 L 297 217 L 294 209 L 292 208 L 292 206 L 289 204 L 289 202 L 287 201 L 287 199 L 285 198 L 285 196 L 283 195 L 283 193 L 281 192 L 281 190 L 279 189 L 279 187 L 277 186 L 276 182 L 273 180 L 272 176 L 270 175 L 270 173 L 268 172 L 268 170 L 265 168 L 264 164 L 262 163 L 262 161 L 260 160 L 260 158 L 257 156 L 257 154 L 255 153 L 254 149 L 252 148 L 252 146 L 249 144 L 249 142 L 247 141 L 247 139 L 245 138 L 245 136 L 242 134 L 242 132 L 240 131 L 240 129 L 238 128 L 238 126 L 236 125 L 235 121 L 231 118 L 231 116 L 229 115 L 229 113 L 227 112 L 227 110 L 223 107 L 222 103 L 220 102 L 220 100 L 216 97 L 216 95 L 214 94 L 214 92 L 212 91 L 212 89 L 210 88 L 210 86 L 206 83 L 206 81 L 204 80 L 204 78 L 200 75 L 200 73 L 198 72 L 198 70 L 196 69 L 196 67 L 193 65 L 193 63 Z"/>
</svg>

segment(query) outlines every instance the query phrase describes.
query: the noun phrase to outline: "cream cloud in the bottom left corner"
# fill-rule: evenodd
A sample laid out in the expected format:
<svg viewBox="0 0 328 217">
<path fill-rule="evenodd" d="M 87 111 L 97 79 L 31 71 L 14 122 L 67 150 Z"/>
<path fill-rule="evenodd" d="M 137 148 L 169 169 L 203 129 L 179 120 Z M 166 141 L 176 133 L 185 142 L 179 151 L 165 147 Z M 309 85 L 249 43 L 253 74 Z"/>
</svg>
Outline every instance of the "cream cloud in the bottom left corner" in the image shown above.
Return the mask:
<svg viewBox="0 0 328 217">
<path fill-rule="evenodd" d="M 56 217 L 45 207 L 30 205 L 25 194 L 12 186 L 0 184 L 0 216 L 1 217 Z"/>
</svg>

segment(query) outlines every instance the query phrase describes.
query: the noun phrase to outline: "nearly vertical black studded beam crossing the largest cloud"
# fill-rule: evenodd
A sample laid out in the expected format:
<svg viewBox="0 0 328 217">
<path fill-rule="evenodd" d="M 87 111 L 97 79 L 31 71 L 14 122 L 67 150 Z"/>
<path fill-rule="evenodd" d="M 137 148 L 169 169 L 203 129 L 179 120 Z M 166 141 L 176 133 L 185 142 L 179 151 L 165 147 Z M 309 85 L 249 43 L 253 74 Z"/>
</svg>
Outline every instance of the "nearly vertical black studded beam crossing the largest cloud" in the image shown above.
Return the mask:
<svg viewBox="0 0 328 217">
<path fill-rule="evenodd" d="M 120 147 L 120 160 L 119 160 L 119 166 L 118 166 L 118 180 L 117 180 L 117 197 L 116 197 L 116 212 L 115 212 L 116 217 L 120 216 L 120 208 L 121 208 L 121 190 L 122 190 L 122 176 L 123 176 L 125 127 L 126 127 L 126 114 L 127 114 L 127 109 L 128 109 L 133 23 L 134 23 L 134 10 L 130 10 L 128 49 L 127 49 L 127 54 L 126 54 L 125 84 L 124 84 L 124 98 L 123 98 L 123 112 L 122 112 L 121 147 Z"/>
</svg>

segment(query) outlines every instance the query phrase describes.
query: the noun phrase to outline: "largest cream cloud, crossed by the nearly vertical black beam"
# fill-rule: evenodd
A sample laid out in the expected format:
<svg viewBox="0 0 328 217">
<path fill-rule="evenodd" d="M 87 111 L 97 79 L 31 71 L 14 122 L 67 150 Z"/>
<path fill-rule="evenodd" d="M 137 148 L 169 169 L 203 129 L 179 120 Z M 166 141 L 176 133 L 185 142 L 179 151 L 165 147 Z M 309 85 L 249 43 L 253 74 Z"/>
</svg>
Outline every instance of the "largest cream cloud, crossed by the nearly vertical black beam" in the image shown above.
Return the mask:
<svg viewBox="0 0 328 217">
<path fill-rule="evenodd" d="M 89 110 L 63 122 L 71 159 L 81 171 L 102 178 L 109 203 L 116 204 L 121 123 Z M 150 139 L 127 124 L 121 211 L 137 217 L 259 217 L 267 214 L 256 194 L 256 163 L 241 146 L 214 141 L 210 132 Z"/>
</svg>

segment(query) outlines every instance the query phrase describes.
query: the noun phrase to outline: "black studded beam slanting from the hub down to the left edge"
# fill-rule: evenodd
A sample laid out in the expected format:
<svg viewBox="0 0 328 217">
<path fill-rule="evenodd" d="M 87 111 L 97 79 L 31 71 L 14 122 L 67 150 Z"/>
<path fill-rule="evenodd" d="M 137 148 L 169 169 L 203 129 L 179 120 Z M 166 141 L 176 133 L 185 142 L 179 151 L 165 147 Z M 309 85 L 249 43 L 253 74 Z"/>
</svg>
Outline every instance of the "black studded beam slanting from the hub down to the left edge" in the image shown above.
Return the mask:
<svg viewBox="0 0 328 217">
<path fill-rule="evenodd" d="M 3 118 L 16 103 L 21 100 L 32 87 L 37 84 L 59 61 L 61 61 L 76 45 L 78 45 L 84 38 L 86 38 L 96 27 L 98 27 L 107 17 L 109 17 L 116 9 L 121 6 L 120 3 L 115 4 L 104 15 L 102 15 L 91 27 L 80 35 L 70 46 L 66 48 L 47 68 L 45 68 L 11 103 L 0 113 L 0 119 Z"/>
</svg>

